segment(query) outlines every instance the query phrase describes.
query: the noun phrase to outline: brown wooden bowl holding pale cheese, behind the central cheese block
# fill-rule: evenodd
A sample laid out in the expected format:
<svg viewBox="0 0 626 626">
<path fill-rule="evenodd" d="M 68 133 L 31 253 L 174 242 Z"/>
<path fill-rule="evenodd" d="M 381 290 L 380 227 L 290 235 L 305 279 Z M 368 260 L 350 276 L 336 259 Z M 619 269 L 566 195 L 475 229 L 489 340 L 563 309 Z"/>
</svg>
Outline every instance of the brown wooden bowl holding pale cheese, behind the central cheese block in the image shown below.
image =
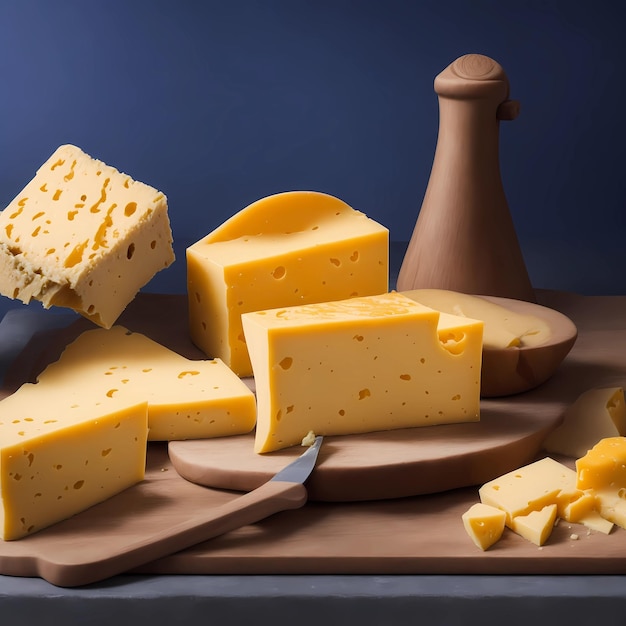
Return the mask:
<svg viewBox="0 0 626 626">
<path fill-rule="evenodd" d="M 538 387 L 557 370 L 576 343 L 578 330 L 567 316 L 548 307 L 509 298 L 480 296 L 511 311 L 542 318 L 550 327 L 550 339 L 521 348 L 483 348 L 481 396 L 495 398 Z"/>
</svg>

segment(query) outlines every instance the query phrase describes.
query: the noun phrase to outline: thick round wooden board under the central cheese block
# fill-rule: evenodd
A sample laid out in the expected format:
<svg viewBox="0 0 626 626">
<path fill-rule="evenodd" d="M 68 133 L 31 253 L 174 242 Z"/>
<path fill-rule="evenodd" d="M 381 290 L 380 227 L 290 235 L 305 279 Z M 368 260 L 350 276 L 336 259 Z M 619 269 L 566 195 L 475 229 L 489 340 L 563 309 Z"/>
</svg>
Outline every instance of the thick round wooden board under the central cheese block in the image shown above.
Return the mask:
<svg viewBox="0 0 626 626">
<path fill-rule="evenodd" d="M 309 498 L 383 500 L 478 485 L 534 459 L 566 402 L 529 392 L 484 400 L 480 422 L 325 437 L 307 482 Z M 172 441 L 172 465 L 187 480 L 251 491 L 302 454 L 301 446 L 256 454 L 254 435 Z"/>
</svg>

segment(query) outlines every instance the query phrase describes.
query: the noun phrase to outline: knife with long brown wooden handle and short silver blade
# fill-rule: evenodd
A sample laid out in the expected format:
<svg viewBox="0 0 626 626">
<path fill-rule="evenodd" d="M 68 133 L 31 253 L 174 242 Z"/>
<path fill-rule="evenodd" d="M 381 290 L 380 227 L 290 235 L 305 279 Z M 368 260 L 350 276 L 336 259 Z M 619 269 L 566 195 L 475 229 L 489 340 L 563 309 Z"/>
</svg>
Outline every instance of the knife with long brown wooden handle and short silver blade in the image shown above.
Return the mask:
<svg viewBox="0 0 626 626">
<path fill-rule="evenodd" d="M 207 541 L 247 524 L 258 522 L 279 511 L 298 509 L 307 501 L 304 485 L 315 464 L 322 437 L 253 491 L 217 506 L 198 517 L 186 520 L 125 547 L 124 551 L 93 563 L 53 563 L 43 561 L 38 574 L 59 587 L 76 587 L 102 581 L 179 550 Z"/>
</svg>

